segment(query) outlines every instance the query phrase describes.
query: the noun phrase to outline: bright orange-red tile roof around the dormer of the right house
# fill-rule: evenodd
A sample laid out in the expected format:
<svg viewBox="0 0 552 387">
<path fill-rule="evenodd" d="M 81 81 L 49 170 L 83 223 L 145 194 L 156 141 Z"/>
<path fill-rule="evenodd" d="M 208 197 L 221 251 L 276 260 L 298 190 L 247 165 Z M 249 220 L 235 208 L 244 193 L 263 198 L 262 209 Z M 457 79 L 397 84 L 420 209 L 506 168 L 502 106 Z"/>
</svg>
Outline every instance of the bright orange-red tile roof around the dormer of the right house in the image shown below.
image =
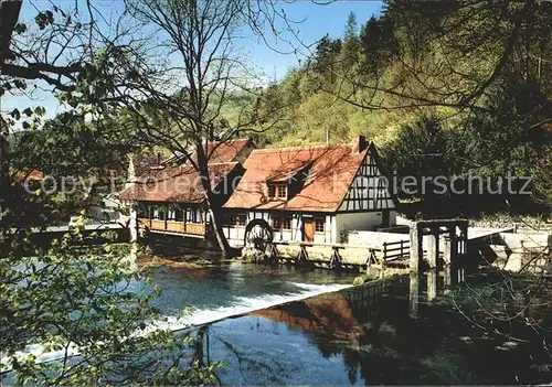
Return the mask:
<svg viewBox="0 0 552 387">
<path fill-rule="evenodd" d="M 336 212 L 368 149 L 354 144 L 254 150 L 225 208 Z M 284 201 L 268 201 L 267 181 L 283 181 L 311 165 L 302 187 Z"/>
</svg>

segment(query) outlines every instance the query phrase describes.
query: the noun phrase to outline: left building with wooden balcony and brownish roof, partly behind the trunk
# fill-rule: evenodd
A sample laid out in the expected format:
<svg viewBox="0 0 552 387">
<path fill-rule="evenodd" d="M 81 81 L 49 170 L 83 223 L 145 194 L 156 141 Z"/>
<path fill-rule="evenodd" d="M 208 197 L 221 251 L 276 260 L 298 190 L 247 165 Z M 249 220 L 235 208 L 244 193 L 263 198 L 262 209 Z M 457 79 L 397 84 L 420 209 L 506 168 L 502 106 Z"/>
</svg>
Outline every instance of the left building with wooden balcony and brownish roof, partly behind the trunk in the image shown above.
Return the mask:
<svg viewBox="0 0 552 387">
<path fill-rule="evenodd" d="M 209 155 L 209 178 L 217 205 L 222 205 L 243 175 L 241 161 L 253 144 L 250 140 L 224 143 L 211 142 L 205 147 Z M 157 160 L 157 161 L 156 161 Z M 195 168 L 177 158 L 136 158 L 131 162 L 131 182 L 120 194 L 131 206 L 131 228 L 146 228 L 151 233 L 204 238 L 208 230 L 205 192 Z"/>
</svg>

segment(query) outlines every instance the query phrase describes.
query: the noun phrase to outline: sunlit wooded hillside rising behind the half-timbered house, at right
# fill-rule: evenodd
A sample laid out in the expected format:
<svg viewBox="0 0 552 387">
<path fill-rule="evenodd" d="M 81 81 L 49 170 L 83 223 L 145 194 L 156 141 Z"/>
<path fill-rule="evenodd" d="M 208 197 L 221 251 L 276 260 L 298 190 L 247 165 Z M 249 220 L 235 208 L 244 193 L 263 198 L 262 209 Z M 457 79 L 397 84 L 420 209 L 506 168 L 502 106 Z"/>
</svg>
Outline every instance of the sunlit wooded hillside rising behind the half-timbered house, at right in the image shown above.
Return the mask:
<svg viewBox="0 0 552 387">
<path fill-rule="evenodd" d="M 401 175 L 552 181 L 552 3 L 386 1 L 270 85 L 261 146 L 374 140 Z"/>
</svg>

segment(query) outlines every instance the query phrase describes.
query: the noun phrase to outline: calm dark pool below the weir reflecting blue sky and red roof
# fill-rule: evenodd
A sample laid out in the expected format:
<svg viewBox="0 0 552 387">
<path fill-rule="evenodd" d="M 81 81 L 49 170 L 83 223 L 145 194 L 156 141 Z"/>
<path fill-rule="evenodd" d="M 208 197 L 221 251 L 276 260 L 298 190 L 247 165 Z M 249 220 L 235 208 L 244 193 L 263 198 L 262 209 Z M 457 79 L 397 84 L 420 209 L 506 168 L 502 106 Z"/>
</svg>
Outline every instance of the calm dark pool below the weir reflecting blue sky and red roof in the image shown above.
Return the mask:
<svg viewBox="0 0 552 387">
<path fill-rule="evenodd" d="M 421 282 L 408 282 L 370 283 L 211 324 L 200 332 L 195 356 L 225 362 L 223 384 L 545 380 L 529 372 L 530 352 L 522 346 L 517 354 L 498 352 L 495 338 L 420 292 L 413 319 L 408 290 Z"/>
</svg>

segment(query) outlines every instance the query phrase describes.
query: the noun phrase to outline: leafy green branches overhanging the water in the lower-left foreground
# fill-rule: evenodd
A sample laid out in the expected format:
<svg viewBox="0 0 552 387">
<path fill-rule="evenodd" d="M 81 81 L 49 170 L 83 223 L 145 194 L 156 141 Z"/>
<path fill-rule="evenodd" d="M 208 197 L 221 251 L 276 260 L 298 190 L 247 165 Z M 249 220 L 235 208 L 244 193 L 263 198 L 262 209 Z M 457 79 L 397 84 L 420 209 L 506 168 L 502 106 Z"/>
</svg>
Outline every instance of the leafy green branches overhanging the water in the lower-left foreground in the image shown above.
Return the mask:
<svg viewBox="0 0 552 387">
<path fill-rule="evenodd" d="M 166 319 L 151 304 L 161 289 L 131 269 L 136 250 L 86 239 L 75 228 L 32 257 L 0 260 L 1 368 L 21 384 L 213 383 L 204 367 L 178 366 L 190 336 L 147 330 Z M 60 359 L 39 362 L 33 348 Z"/>
</svg>

